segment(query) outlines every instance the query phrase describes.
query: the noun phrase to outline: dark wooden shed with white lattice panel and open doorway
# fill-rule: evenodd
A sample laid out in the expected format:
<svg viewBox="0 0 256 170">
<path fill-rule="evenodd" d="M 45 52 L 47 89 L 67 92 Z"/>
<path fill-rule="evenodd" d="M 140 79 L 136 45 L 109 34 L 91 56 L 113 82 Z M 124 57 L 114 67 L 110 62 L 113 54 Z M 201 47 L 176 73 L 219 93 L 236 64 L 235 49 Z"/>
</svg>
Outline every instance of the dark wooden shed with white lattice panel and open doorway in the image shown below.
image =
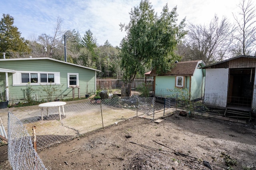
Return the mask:
<svg viewBox="0 0 256 170">
<path fill-rule="evenodd" d="M 256 57 L 240 55 L 204 68 L 206 105 L 249 112 L 256 110 Z"/>
</svg>

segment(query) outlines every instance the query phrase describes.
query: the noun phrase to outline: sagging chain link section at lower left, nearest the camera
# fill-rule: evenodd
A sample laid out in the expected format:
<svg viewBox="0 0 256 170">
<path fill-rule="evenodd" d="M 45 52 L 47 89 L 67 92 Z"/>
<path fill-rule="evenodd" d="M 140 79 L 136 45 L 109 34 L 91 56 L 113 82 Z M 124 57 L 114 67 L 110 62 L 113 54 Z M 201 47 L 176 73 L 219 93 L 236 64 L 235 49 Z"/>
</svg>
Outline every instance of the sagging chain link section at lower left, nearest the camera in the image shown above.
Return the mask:
<svg viewBox="0 0 256 170">
<path fill-rule="evenodd" d="M 8 160 L 14 170 L 47 170 L 22 122 L 8 113 Z"/>
</svg>

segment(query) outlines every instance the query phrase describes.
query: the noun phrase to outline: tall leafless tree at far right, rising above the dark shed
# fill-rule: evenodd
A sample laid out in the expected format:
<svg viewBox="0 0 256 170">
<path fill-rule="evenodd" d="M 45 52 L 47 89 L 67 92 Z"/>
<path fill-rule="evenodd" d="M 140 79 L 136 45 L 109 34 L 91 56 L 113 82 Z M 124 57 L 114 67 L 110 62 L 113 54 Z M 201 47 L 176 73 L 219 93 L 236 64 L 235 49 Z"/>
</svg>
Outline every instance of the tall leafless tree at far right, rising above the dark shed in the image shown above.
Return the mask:
<svg viewBox="0 0 256 170">
<path fill-rule="evenodd" d="M 234 33 L 235 55 L 254 55 L 256 54 L 256 16 L 255 6 L 252 1 L 242 0 L 238 6 L 240 12 L 238 16 L 233 13 L 236 21 L 236 32 Z"/>
</svg>

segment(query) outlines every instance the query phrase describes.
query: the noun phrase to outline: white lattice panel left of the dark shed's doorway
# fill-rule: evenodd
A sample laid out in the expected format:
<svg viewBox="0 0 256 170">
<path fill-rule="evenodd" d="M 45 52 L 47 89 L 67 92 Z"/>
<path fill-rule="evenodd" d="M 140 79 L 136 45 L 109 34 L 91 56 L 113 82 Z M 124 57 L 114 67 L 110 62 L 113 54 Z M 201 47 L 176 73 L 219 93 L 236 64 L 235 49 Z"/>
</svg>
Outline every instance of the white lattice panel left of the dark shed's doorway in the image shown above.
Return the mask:
<svg viewBox="0 0 256 170">
<path fill-rule="evenodd" d="M 204 103 L 226 107 L 228 94 L 228 68 L 206 69 Z"/>
</svg>

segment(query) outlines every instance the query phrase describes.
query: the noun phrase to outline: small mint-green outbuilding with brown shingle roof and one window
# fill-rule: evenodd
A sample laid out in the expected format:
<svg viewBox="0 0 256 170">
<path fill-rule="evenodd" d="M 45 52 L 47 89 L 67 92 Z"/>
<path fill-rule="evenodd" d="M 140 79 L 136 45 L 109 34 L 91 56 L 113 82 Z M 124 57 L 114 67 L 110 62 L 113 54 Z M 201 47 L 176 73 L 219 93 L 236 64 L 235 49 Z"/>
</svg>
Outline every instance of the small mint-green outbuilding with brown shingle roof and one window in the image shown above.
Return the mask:
<svg viewBox="0 0 256 170">
<path fill-rule="evenodd" d="M 176 62 L 174 68 L 166 73 L 157 74 L 156 70 L 145 73 L 154 77 L 153 95 L 160 98 L 170 96 L 174 88 L 187 89 L 190 100 L 202 98 L 204 95 L 205 66 L 202 60 Z"/>
</svg>

